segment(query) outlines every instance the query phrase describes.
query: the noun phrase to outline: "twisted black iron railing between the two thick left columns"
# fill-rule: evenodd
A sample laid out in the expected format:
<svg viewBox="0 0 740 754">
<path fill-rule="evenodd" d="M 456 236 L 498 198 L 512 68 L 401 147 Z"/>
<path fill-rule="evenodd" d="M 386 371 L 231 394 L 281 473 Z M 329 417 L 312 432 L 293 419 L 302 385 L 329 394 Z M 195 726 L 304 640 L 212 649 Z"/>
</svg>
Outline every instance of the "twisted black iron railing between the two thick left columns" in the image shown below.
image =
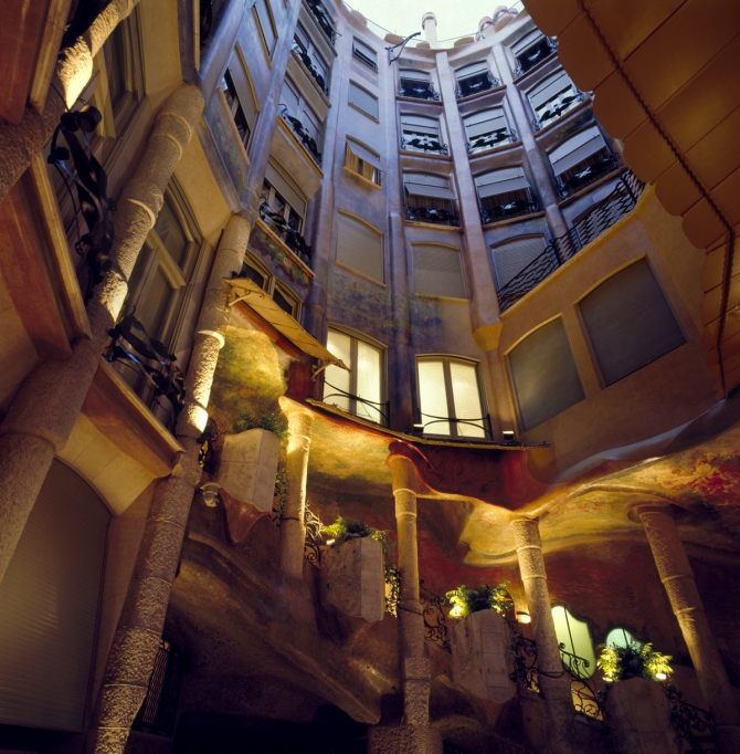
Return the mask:
<svg viewBox="0 0 740 754">
<path fill-rule="evenodd" d="M 175 364 L 177 357 L 170 354 L 163 343 L 149 336 L 144 325 L 127 314 L 108 331 L 113 341 L 104 356 L 107 362 L 120 362 L 135 370 L 151 390 L 152 405 L 167 398 L 172 407 L 172 425 L 184 406 L 184 375 Z"/>
</svg>

